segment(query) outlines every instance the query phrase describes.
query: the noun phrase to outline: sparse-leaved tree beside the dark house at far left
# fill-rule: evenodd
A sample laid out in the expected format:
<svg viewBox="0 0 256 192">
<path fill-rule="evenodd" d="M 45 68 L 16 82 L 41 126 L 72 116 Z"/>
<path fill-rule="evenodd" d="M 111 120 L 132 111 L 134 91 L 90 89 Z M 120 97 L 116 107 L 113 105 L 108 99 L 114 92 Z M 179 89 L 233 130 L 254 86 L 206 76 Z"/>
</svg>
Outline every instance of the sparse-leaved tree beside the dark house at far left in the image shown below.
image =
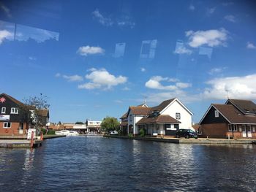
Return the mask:
<svg viewBox="0 0 256 192">
<path fill-rule="evenodd" d="M 48 97 L 43 96 L 42 93 L 40 93 L 40 96 L 30 96 L 28 99 L 23 99 L 29 114 L 30 123 L 37 130 L 39 130 L 39 126 L 42 125 L 43 118 L 45 118 L 42 116 L 42 112 L 50 107 L 47 100 Z"/>
</svg>

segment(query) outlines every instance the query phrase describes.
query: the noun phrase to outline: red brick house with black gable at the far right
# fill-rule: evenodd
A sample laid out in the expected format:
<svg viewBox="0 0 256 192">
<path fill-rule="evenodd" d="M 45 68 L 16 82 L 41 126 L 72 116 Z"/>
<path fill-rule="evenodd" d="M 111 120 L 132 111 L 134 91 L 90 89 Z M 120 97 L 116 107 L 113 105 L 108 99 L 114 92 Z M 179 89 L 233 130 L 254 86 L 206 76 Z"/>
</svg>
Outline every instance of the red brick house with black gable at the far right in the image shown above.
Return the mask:
<svg viewBox="0 0 256 192">
<path fill-rule="evenodd" d="M 256 138 L 256 104 L 241 99 L 211 104 L 199 124 L 202 137 Z"/>
</svg>

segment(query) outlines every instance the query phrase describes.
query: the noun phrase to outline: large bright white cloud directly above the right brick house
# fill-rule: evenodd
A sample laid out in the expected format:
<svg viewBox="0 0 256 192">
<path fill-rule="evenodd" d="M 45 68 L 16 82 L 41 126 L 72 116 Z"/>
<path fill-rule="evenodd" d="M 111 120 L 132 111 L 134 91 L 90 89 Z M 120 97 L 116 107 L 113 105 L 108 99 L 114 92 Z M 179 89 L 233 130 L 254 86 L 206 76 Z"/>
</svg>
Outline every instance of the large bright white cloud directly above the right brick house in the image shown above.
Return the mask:
<svg viewBox="0 0 256 192">
<path fill-rule="evenodd" d="M 256 74 L 241 77 L 215 78 L 206 82 L 206 88 L 201 96 L 203 99 L 256 99 Z"/>
</svg>

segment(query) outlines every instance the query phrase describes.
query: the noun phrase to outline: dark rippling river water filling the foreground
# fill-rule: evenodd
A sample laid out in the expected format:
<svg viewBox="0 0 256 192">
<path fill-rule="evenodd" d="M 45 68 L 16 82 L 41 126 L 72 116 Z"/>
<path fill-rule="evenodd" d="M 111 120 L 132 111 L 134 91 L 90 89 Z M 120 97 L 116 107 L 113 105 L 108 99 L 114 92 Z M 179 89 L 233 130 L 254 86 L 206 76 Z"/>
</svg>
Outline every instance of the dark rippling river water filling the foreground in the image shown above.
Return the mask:
<svg viewBox="0 0 256 192">
<path fill-rule="evenodd" d="M 48 139 L 0 149 L 0 191 L 256 191 L 256 145 Z"/>
</svg>

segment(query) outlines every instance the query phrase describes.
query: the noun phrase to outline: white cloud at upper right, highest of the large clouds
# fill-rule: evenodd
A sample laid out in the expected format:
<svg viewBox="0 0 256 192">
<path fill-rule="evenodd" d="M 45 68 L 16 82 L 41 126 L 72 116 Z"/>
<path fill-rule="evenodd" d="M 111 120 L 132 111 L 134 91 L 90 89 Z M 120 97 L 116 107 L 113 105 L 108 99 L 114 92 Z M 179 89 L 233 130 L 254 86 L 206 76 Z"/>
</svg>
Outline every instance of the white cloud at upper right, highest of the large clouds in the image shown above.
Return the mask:
<svg viewBox="0 0 256 192">
<path fill-rule="evenodd" d="M 200 47 L 208 45 L 209 47 L 225 46 L 228 31 L 225 28 L 220 30 L 211 29 L 208 31 L 187 31 L 186 36 L 189 37 L 190 47 Z"/>
</svg>

